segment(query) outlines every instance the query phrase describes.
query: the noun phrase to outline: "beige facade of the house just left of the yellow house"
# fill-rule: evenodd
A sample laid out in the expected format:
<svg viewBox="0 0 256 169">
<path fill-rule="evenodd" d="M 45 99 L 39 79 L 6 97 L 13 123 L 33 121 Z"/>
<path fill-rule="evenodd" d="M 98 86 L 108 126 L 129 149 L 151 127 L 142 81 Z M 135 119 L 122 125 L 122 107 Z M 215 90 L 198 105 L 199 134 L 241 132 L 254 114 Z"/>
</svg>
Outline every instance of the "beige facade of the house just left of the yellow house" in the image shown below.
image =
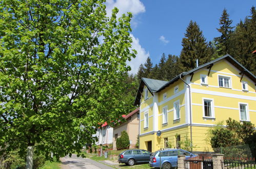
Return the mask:
<svg viewBox="0 0 256 169">
<path fill-rule="evenodd" d="M 130 149 L 135 148 L 137 136 L 139 134 L 139 108 L 128 115 L 124 115 L 124 122 L 115 125 L 113 128 L 113 150 L 116 150 L 116 139 L 121 136 L 122 131 L 126 131 L 130 139 Z"/>
</svg>

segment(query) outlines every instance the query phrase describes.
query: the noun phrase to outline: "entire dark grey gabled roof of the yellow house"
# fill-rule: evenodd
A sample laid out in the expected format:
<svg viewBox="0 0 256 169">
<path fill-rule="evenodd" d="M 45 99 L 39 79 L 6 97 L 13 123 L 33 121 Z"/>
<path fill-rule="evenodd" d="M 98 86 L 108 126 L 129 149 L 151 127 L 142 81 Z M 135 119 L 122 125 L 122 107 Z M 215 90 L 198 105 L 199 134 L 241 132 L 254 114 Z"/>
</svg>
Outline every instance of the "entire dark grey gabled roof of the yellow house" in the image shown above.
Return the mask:
<svg viewBox="0 0 256 169">
<path fill-rule="evenodd" d="M 141 93 L 143 91 L 143 87 L 144 85 L 146 85 L 148 87 L 148 89 L 150 90 L 151 94 L 152 92 L 160 92 L 163 89 L 165 89 L 166 87 L 170 86 L 172 83 L 174 83 L 175 81 L 179 80 L 180 76 L 184 77 L 186 75 L 192 75 L 195 71 L 204 68 L 204 67 L 212 67 L 217 61 L 222 60 L 222 59 L 226 59 L 227 61 L 229 61 L 234 67 L 236 67 L 238 70 L 240 70 L 240 74 L 245 74 L 246 76 L 248 76 L 254 83 L 256 86 L 256 76 L 253 75 L 250 71 L 248 71 L 244 66 L 242 66 L 237 60 L 235 60 L 232 56 L 230 56 L 229 54 L 226 54 L 222 57 L 219 57 L 217 59 L 214 59 L 212 61 L 207 62 L 204 65 L 201 65 L 197 68 L 194 68 L 188 72 L 183 72 L 180 75 L 174 77 L 173 79 L 171 79 L 170 81 L 163 81 L 163 80 L 154 80 L 154 79 L 148 79 L 148 78 L 142 78 L 141 83 L 140 83 L 140 87 L 139 90 L 137 92 L 137 96 L 135 99 L 134 104 L 140 104 L 140 98 L 141 98 Z M 162 86 L 161 86 L 162 85 Z"/>
</svg>

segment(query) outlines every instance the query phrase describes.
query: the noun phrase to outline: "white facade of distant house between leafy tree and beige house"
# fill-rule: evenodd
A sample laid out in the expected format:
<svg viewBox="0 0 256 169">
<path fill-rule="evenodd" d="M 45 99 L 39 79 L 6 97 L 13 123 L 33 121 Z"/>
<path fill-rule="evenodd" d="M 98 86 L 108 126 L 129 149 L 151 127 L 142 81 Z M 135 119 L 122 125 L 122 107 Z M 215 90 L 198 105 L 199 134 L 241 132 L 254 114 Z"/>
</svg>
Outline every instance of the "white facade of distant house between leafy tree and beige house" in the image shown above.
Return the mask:
<svg viewBox="0 0 256 169">
<path fill-rule="evenodd" d="M 113 143 L 113 128 L 108 125 L 107 122 L 102 124 L 96 130 L 96 134 L 92 135 L 92 137 L 97 137 L 98 141 L 95 142 L 96 145 L 108 145 Z"/>
</svg>

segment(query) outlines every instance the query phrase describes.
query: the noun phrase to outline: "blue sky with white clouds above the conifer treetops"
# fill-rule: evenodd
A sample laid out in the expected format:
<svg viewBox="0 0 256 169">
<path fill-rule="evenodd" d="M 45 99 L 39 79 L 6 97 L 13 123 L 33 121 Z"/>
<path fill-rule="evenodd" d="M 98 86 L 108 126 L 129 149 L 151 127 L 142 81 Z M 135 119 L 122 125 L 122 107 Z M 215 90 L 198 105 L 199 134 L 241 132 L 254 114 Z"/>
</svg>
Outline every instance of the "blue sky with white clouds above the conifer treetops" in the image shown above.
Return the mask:
<svg viewBox="0 0 256 169">
<path fill-rule="evenodd" d="M 115 6 L 119 15 L 133 13 L 131 22 L 132 48 L 138 54 L 128 62 L 135 74 L 140 64 L 149 56 L 153 65 L 158 64 L 163 53 L 180 55 L 181 41 L 190 20 L 195 21 L 207 41 L 220 36 L 219 19 L 224 8 L 233 20 L 233 26 L 250 15 L 250 8 L 256 6 L 252 0 L 107 0 L 107 11 Z"/>
</svg>

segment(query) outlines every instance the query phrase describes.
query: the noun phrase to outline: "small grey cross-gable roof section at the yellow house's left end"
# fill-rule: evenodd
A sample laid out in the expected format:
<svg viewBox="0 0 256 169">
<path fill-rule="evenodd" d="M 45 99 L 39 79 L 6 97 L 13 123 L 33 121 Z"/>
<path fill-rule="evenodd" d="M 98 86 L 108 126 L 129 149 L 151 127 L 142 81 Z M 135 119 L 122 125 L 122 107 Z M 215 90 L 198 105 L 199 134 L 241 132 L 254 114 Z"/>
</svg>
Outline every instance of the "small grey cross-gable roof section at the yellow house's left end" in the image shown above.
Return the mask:
<svg viewBox="0 0 256 169">
<path fill-rule="evenodd" d="M 137 95 L 136 95 L 136 98 L 135 98 L 135 101 L 134 101 L 134 105 L 139 105 L 140 104 L 140 98 L 141 98 L 141 94 L 143 92 L 144 85 L 146 85 L 148 90 L 150 91 L 150 93 L 153 94 L 153 92 L 156 92 L 157 90 L 159 90 L 167 82 L 168 81 L 155 80 L 155 79 L 149 79 L 149 78 L 143 77 L 141 79 L 141 82 L 140 82 L 139 90 L 137 91 Z"/>
</svg>

